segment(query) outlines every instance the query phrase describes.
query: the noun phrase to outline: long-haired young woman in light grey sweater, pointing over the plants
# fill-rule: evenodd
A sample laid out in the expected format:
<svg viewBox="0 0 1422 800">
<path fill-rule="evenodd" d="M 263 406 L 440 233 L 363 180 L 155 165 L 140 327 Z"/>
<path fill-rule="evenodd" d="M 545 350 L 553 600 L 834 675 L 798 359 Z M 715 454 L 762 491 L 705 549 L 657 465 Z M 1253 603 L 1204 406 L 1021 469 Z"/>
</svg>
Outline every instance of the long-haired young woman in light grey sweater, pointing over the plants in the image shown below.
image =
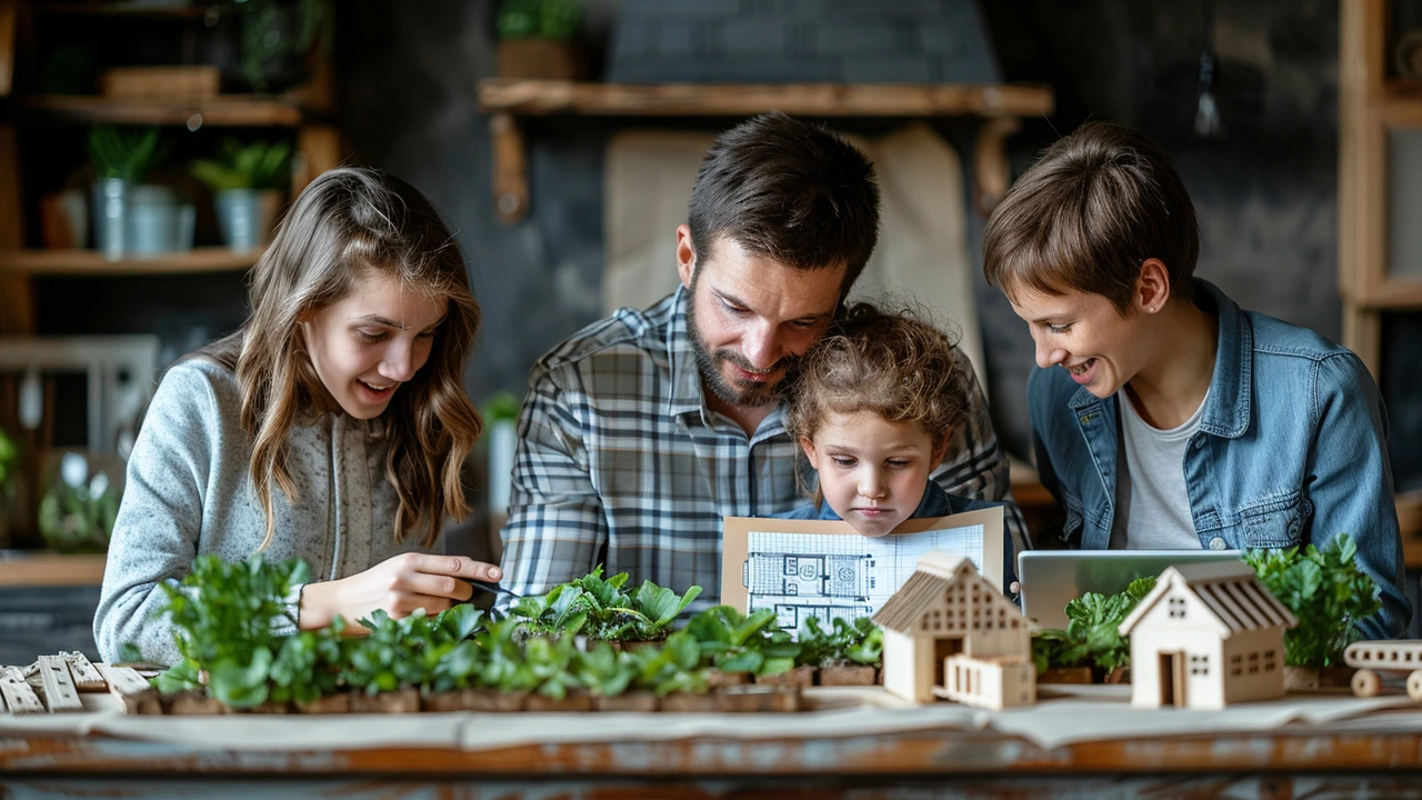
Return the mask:
<svg viewBox="0 0 1422 800">
<path fill-rule="evenodd" d="M 410 184 L 320 175 L 252 276 L 240 330 L 173 364 L 128 463 L 94 635 L 178 660 L 158 584 L 198 555 L 303 558 L 301 629 L 468 599 L 499 568 L 444 555 L 469 512 L 459 467 L 482 421 L 464 390 L 479 327 L 464 256 Z"/>
</svg>

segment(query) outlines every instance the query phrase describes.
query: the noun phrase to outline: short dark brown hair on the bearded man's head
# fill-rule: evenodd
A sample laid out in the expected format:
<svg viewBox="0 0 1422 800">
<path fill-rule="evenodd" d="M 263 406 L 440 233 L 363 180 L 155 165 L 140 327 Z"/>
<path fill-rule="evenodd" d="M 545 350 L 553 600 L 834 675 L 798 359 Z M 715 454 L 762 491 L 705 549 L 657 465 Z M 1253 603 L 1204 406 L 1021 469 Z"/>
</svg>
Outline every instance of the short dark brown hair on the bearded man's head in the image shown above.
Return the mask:
<svg viewBox="0 0 1422 800">
<path fill-rule="evenodd" d="M 879 241 L 875 167 L 823 127 L 779 111 L 717 137 L 687 209 L 697 258 L 727 236 L 795 269 L 846 266 L 843 292 Z"/>
</svg>

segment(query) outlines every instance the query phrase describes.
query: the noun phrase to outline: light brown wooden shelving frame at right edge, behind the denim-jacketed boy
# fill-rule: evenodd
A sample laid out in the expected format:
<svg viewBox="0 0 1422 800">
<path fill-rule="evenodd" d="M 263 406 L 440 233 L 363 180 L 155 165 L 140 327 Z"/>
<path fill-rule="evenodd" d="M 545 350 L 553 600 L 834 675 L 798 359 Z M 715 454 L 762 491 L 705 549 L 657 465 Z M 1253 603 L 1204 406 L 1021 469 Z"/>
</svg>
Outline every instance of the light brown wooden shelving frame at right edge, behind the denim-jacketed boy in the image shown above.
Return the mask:
<svg viewBox="0 0 1422 800">
<path fill-rule="evenodd" d="M 1422 265 L 1399 263 L 1394 233 L 1415 226 L 1395 208 L 1395 149 L 1422 148 L 1422 84 L 1388 75 L 1388 1 L 1342 0 L 1338 47 L 1338 292 L 1342 343 L 1381 374 L 1382 313 L 1422 309 Z M 1413 158 L 1416 152 L 1413 154 Z M 1399 225 L 1401 223 L 1401 225 Z M 1422 567 L 1422 491 L 1396 497 L 1406 562 Z"/>
</svg>

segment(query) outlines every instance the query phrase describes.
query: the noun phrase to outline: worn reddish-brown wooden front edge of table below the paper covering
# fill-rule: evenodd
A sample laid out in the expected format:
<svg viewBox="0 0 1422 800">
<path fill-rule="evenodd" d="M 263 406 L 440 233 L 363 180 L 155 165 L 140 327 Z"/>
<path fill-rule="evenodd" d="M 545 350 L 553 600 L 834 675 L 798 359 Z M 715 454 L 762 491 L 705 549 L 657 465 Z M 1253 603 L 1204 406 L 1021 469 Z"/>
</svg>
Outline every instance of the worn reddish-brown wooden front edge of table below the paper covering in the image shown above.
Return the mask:
<svg viewBox="0 0 1422 800">
<path fill-rule="evenodd" d="M 1200 713 L 1200 712 L 1182 712 Z M 496 717 L 491 717 L 496 720 Z M 648 716 L 654 723 L 656 717 Z M 550 725 L 556 717 L 549 717 Z M 290 786 L 343 797 L 877 797 L 914 789 L 943 797 L 1415 796 L 1422 733 L 1277 730 L 1136 737 L 1052 750 L 997 733 L 920 730 L 882 736 L 764 740 L 539 743 L 483 752 L 195 750 L 107 737 L 0 739 L 0 796 L 272 796 Z M 166 794 L 162 794 L 166 796 Z M 280 794 L 287 796 L 287 794 Z M 1351 796 L 1351 794 L 1349 794 Z"/>
</svg>

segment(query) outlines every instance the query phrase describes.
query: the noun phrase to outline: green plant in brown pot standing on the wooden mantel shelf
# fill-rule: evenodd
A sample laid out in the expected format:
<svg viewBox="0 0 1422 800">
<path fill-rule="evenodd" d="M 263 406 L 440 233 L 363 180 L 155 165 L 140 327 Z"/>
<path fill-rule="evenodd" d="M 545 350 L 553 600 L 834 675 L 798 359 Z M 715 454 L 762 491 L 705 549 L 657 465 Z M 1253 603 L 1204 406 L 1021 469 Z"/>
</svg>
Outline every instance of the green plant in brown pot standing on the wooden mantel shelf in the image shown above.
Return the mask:
<svg viewBox="0 0 1422 800">
<path fill-rule="evenodd" d="M 582 0 L 505 0 L 499 6 L 499 77 L 582 80 L 586 60 L 574 40 Z"/>
</svg>

